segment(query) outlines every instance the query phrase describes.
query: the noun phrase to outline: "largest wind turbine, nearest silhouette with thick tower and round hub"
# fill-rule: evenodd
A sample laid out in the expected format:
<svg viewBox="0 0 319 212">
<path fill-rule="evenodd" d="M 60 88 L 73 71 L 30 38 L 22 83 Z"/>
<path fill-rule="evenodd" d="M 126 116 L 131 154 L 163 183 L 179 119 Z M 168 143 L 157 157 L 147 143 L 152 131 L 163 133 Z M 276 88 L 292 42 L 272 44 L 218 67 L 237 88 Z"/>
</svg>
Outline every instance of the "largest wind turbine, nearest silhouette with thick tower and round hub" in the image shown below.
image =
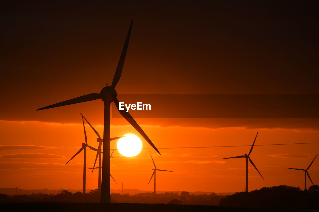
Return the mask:
<svg viewBox="0 0 319 212">
<path fill-rule="evenodd" d="M 80 102 L 88 102 L 93 101 L 97 99 L 102 99 L 104 102 L 104 129 L 103 129 L 103 149 L 104 150 L 110 150 L 110 107 L 111 103 L 114 102 L 117 110 L 120 112 L 120 114 L 136 129 L 136 131 L 160 154 L 158 149 L 155 147 L 155 145 L 152 143 L 152 141 L 147 137 L 145 132 L 142 130 L 142 128 L 137 124 L 137 122 L 134 120 L 134 118 L 130 115 L 130 113 L 126 112 L 125 110 L 120 110 L 119 100 L 116 98 L 116 90 L 115 86 L 120 80 L 122 69 L 124 65 L 124 60 L 127 52 L 127 47 L 129 45 L 130 40 L 130 34 L 132 30 L 133 25 L 133 19 L 130 24 L 129 31 L 126 36 L 126 40 L 123 46 L 123 50 L 120 56 L 120 60 L 117 64 L 116 71 L 113 77 L 112 85 L 106 86 L 102 88 L 101 92 L 99 94 L 87 94 L 84 96 L 76 97 L 74 99 L 66 100 L 63 102 L 59 102 L 56 104 L 52 104 L 43 108 L 39 108 L 38 110 L 44 110 L 49 108 L 55 108 L 60 107 L 64 105 L 70 105 L 70 104 L 76 104 Z M 110 203 L 111 202 L 111 185 L 110 185 L 110 158 L 109 157 L 103 157 L 102 164 L 104 165 L 104 169 L 102 169 L 102 184 L 101 184 L 101 202 Z"/>
</svg>

